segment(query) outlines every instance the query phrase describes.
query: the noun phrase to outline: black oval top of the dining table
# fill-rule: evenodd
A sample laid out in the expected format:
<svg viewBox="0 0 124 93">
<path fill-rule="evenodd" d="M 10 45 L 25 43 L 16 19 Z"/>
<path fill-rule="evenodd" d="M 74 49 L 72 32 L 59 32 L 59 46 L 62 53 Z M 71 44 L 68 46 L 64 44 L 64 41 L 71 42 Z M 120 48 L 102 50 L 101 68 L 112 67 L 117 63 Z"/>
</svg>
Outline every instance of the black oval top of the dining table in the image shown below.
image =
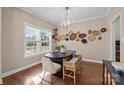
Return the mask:
<svg viewBox="0 0 124 93">
<path fill-rule="evenodd" d="M 45 57 L 47 58 L 66 58 L 66 57 L 69 57 L 70 55 L 73 55 L 75 54 L 76 51 L 74 50 L 66 50 L 65 53 L 62 53 L 62 52 L 48 52 L 45 54 Z"/>
</svg>

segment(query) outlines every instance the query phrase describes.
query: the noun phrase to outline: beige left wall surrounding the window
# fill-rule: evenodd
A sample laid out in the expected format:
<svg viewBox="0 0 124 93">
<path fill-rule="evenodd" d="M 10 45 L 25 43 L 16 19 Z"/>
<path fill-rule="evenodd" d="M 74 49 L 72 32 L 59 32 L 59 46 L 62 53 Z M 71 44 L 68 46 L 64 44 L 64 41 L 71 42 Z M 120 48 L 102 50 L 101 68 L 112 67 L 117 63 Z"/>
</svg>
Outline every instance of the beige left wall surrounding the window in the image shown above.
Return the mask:
<svg viewBox="0 0 124 93">
<path fill-rule="evenodd" d="M 2 8 L 2 73 L 40 61 L 41 55 L 24 58 L 24 23 L 52 30 L 53 25 L 18 8 Z"/>
</svg>

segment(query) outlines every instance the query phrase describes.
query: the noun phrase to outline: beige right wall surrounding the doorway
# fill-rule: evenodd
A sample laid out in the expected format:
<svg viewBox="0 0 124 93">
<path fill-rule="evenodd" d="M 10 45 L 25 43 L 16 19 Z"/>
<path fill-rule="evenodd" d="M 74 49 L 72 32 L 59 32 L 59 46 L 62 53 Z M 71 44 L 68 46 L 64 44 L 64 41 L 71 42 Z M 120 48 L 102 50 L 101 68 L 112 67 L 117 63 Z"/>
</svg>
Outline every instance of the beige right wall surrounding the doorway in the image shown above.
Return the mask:
<svg viewBox="0 0 124 93">
<path fill-rule="evenodd" d="M 110 24 L 111 24 L 111 21 L 113 20 L 113 18 L 115 18 L 118 14 L 120 14 L 120 61 L 121 62 L 124 62 L 124 41 L 123 41 L 123 38 L 124 38 L 124 7 L 116 7 L 116 8 L 111 8 L 108 16 L 107 16 L 107 26 L 108 26 L 108 29 L 109 29 L 109 34 L 108 34 L 108 42 L 107 42 L 107 46 L 108 46 L 108 59 L 111 59 L 110 55 L 111 55 L 111 49 L 112 47 L 110 47 L 111 45 L 111 41 L 110 41 L 110 35 L 111 35 L 111 27 L 110 27 Z M 112 32 L 113 33 L 113 32 Z"/>
</svg>

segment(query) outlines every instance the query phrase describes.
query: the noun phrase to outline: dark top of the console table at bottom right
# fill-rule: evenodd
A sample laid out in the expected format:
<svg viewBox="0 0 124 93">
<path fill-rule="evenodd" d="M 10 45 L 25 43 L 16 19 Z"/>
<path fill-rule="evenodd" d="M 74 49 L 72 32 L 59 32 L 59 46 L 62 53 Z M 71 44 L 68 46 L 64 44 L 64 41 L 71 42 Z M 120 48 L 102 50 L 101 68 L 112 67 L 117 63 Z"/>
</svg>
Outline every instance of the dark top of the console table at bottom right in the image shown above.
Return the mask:
<svg viewBox="0 0 124 93">
<path fill-rule="evenodd" d="M 124 85 L 124 75 L 118 73 L 118 71 L 112 66 L 112 61 L 104 60 L 103 64 L 106 66 L 109 73 L 112 75 L 116 85 Z"/>
</svg>

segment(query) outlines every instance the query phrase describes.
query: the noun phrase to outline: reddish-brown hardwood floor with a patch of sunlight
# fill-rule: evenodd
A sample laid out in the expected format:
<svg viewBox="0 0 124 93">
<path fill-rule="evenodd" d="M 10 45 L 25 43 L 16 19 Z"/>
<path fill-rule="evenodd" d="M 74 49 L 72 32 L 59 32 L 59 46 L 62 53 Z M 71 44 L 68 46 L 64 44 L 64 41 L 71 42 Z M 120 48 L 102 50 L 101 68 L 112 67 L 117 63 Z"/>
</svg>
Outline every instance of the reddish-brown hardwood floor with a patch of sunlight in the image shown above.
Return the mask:
<svg viewBox="0 0 124 93">
<path fill-rule="evenodd" d="M 4 85 L 47 85 L 48 83 L 41 78 L 43 75 L 42 65 L 38 64 L 11 76 L 3 78 Z M 56 79 L 57 76 L 54 76 Z M 46 80 L 51 81 L 48 75 Z M 102 64 L 82 62 L 77 70 L 76 85 L 101 85 L 102 84 Z M 73 85 L 73 79 L 57 79 L 55 85 Z"/>
</svg>

